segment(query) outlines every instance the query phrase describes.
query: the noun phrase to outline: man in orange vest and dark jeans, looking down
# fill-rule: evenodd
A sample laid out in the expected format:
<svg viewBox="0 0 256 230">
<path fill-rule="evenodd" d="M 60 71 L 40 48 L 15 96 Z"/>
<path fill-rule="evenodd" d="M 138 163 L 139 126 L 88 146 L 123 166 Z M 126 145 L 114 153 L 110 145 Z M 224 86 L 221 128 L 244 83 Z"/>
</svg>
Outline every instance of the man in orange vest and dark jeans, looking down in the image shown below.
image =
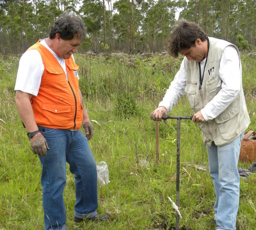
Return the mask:
<svg viewBox="0 0 256 230">
<path fill-rule="evenodd" d="M 32 45 L 19 61 L 15 102 L 32 151 L 42 164 L 46 230 L 67 229 L 63 200 L 66 162 L 75 175 L 74 221 L 109 219 L 96 211 L 96 162 L 88 145 L 93 126 L 82 101 L 79 66 L 73 57 L 84 37 L 82 19 L 63 14 L 49 37 Z"/>
</svg>

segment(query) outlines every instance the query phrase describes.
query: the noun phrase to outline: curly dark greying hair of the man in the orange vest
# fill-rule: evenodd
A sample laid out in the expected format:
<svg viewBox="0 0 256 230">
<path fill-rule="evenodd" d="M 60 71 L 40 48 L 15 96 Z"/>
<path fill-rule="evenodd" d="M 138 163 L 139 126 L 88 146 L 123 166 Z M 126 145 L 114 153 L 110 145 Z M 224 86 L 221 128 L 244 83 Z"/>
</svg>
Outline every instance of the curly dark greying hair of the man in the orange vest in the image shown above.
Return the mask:
<svg viewBox="0 0 256 230">
<path fill-rule="evenodd" d="M 83 40 L 86 36 L 86 27 L 80 16 L 65 12 L 55 21 L 49 38 L 54 39 L 56 33 L 59 33 L 63 40 L 71 40 L 76 34 Z"/>
</svg>

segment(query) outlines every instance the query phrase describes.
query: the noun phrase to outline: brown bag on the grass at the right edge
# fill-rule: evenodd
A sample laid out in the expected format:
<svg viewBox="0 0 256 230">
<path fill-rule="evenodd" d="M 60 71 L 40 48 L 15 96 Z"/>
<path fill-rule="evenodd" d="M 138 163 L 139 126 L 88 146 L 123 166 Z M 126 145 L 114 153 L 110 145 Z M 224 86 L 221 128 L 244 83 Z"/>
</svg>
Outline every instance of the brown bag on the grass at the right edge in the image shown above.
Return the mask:
<svg viewBox="0 0 256 230">
<path fill-rule="evenodd" d="M 253 134 L 253 136 L 250 136 Z M 240 161 L 256 161 L 256 133 L 254 131 L 249 131 L 244 135 L 241 141 L 240 148 Z"/>
</svg>

